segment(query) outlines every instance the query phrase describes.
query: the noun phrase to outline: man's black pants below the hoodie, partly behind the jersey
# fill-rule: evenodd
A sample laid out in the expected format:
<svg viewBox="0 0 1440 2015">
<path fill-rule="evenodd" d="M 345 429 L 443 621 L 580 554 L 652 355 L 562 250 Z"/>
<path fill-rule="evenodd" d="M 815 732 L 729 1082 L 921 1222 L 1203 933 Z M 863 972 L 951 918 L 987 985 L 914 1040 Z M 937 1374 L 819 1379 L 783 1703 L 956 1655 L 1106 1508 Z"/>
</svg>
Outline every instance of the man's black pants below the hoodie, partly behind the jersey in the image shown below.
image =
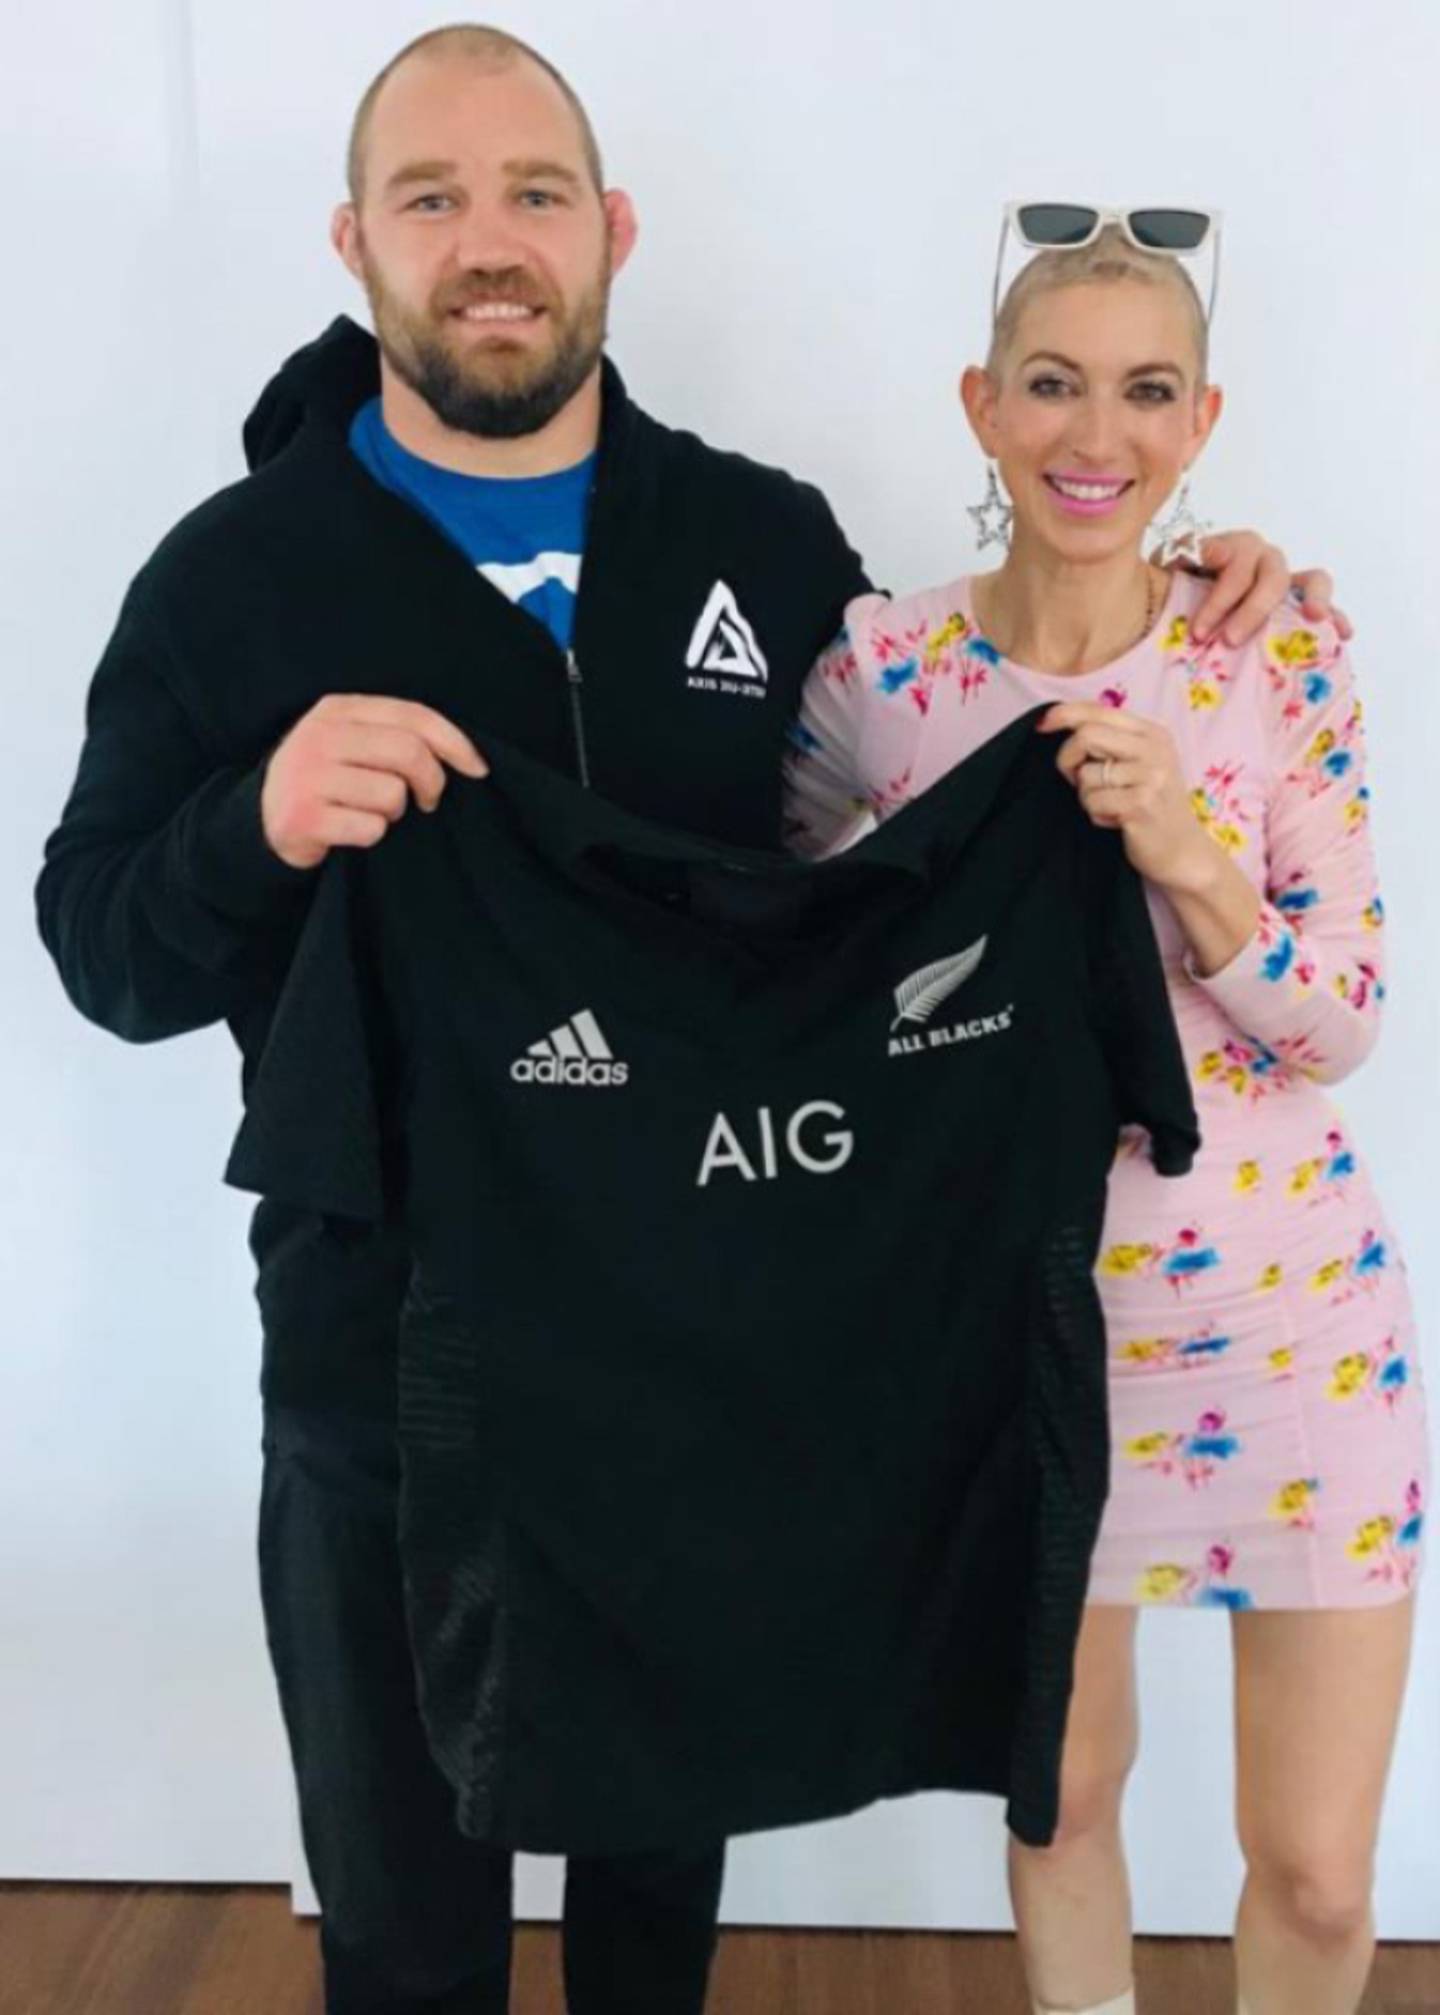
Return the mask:
<svg viewBox="0 0 1440 2015">
<path fill-rule="evenodd" d="M 320 1896 L 326 2015 L 506 2015 L 512 1858 L 467 1840 L 425 1745 L 383 1423 L 268 1406 L 266 1640 Z M 699 2015 L 725 1848 L 572 1858 L 570 2015 Z"/>
</svg>

